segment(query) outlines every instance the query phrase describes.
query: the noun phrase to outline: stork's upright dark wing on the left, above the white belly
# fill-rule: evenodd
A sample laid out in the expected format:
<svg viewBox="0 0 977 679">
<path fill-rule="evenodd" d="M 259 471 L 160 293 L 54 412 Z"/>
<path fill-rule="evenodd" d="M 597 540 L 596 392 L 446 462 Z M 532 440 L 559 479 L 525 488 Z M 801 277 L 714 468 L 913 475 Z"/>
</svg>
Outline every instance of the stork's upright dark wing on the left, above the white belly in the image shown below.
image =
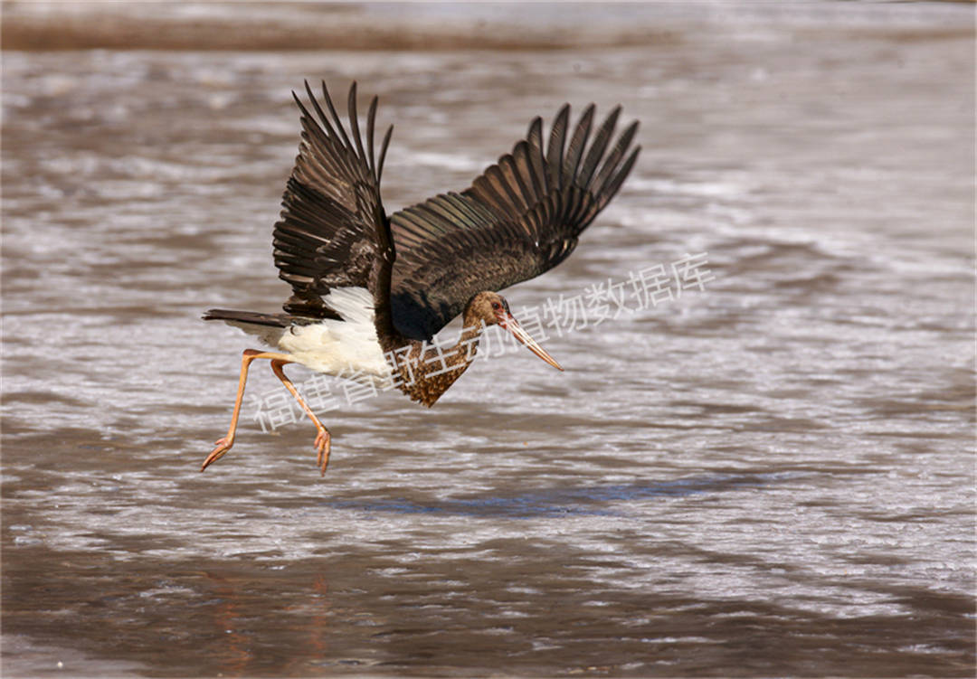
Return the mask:
<svg viewBox="0 0 977 679">
<path fill-rule="evenodd" d="M 322 83 L 326 116 L 306 82 L 314 116 L 295 93 L 302 112 L 302 141 L 275 225 L 275 266 L 292 286 L 283 305 L 306 318 L 339 318 L 323 302 L 335 287 L 364 287 L 373 296 L 377 322 L 389 323 L 391 267 L 395 252 L 380 200 L 380 176 L 393 127 L 373 148 L 377 98 L 366 114 L 365 148 L 357 119 L 357 84 L 350 86 L 347 132 Z M 383 318 L 386 317 L 386 318 Z"/>
</svg>

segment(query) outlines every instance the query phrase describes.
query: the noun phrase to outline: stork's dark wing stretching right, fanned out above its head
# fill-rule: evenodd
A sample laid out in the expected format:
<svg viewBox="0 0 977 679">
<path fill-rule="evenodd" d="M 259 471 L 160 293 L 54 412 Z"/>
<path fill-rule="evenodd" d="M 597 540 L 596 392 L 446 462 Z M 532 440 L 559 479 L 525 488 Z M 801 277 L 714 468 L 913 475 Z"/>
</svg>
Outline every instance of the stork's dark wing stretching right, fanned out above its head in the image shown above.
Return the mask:
<svg viewBox="0 0 977 679">
<path fill-rule="evenodd" d="M 565 260 L 641 149 L 630 148 L 637 121 L 613 140 L 619 114 L 617 106 L 591 140 L 594 105 L 570 135 L 565 105 L 545 149 L 537 117 L 526 139 L 471 187 L 391 215 L 398 248 L 391 300 L 397 329 L 430 338 L 475 294 L 501 290 Z"/>
</svg>

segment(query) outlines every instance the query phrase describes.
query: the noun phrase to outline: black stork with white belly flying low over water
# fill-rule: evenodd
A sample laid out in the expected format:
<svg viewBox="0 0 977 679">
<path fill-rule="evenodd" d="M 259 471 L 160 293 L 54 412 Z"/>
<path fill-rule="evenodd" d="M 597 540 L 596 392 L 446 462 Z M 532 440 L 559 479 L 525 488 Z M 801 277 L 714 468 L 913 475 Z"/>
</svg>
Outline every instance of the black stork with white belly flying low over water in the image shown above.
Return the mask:
<svg viewBox="0 0 977 679">
<path fill-rule="evenodd" d="M 377 98 L 366 114 L 364 148 L 357 84 L 350 86 L 349 133 L 325 83 L 322 101 L 328 115 L 308 82 L 305 89 L 316 114 L 292 93 L 301 111 L 302 141 L 274 233 L 275 264 L 292 295 L 284 314 L 212 309 L 204 315 L 257 335 L 276 351 L 244 352 L 231 428 L 200 471 L 234 445 L 248 366 L 257 359 L 271 361 L 276 377 L 316 425 L 322 474 L 329 461 L 329 432 L 285 376 L 287 363 L 397 386 L 431 406 L 468 367 L 483 329 L 498 324 L 562 370 L 495 291 L 566 259 L 579 234 L 614 197 L 640 150 L 630 148 L 637 121 L 613 140 L 620 106 L 590 140 L 594 105 L 584 109 L 572 133 L 570 106 L 565 105 L 545 149 L 542 121 L 536 117 L 526 139 L 471 187 L 388 217 L 380 177 L 393 126 L 377 160 Z M 441 353 L 442 361 L 432 360 L 435 347 L 429 341 L 459 314 L 464 329 L 458 343 Z"/>
</svg>

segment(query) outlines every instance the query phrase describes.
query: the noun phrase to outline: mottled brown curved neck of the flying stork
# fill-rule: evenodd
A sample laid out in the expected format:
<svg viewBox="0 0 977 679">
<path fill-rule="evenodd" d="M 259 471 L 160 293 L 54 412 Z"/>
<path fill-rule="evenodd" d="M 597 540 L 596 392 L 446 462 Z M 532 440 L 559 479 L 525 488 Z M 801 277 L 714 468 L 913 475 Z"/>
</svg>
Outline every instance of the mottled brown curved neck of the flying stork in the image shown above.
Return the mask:
<svg viewBox="0 0 977 679">
<path fill-rule="evenodd" d="M 437 338 L 432 342 L 405 343 L 396 352 L 397 386 L 412 400 L 428 407 L 434 405 L 475 359 L 484 329 L 485 324 L 465 310 L 464 327 L 453 346 L 446 346 Z"/>
</svg>

